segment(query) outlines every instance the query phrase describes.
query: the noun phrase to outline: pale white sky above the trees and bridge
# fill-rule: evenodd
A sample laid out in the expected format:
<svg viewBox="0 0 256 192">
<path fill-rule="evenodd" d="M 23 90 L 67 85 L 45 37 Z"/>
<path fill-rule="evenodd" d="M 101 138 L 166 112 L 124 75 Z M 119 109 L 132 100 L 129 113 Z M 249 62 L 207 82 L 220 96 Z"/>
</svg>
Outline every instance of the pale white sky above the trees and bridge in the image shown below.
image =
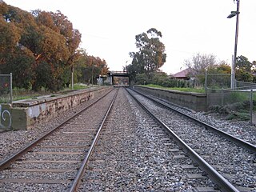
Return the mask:
<svg viewBox="0 0 256 192">
<path fill-rule="evenodd" d="M 137 51 L 135 35 L 155 28 L 166 46 L 167 74 L 184 70 L 194 54 L 214 54 L 231 63 L 236 10 L 233 0 L 4 0 L 22 10 L 60 10 L 82 34 L 80 47 L 122 70 Z M 238 56 L 256 60 L 256 0 L 240 0 Z"/>
</svg>

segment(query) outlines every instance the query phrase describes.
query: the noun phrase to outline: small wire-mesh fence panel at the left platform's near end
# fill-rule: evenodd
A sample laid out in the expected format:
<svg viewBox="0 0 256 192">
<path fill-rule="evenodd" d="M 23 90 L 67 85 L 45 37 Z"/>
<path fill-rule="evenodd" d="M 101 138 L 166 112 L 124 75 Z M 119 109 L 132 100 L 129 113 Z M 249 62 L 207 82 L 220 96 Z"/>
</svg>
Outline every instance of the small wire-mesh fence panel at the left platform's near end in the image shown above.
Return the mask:
<svg viewBox="0 0 256 192">
<path fill-rule="evenodd" d="M 0 74 L 0 101 L 13 102 L 12 74 Z"/>
</svg>

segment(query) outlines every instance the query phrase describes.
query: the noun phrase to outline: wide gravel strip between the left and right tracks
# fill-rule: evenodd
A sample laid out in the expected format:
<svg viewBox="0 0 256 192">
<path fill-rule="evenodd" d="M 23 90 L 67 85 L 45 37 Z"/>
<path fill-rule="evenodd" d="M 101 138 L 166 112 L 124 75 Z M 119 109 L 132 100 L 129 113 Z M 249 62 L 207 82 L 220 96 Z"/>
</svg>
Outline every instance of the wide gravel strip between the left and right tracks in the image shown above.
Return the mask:
<svg viewBox="0 0 256 192">
<path fill-rule="evenodd" d="M 79 191 L 218 191 L 124 90 L 99 139 Z"/>
</svg>

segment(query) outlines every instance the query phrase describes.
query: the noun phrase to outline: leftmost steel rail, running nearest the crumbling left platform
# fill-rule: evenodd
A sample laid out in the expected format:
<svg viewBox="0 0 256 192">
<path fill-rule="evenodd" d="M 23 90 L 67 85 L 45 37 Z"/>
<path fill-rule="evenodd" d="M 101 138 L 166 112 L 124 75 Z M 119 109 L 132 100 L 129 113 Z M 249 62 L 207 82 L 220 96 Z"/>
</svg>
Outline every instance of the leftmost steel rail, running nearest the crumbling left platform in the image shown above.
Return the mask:
<svg viewBox="0 0 256 192">
<path fill-rule="evenodd" d="M 113 89 L 112 89 L 113 90 Z M 16 159 L 18 159 L 19 157 L 22 156 L 22 154 L 25 154 L 27 151 L 29 151 L 31 148 L 33 148 L 34 146 L 36 146 L 39 142 L 41 142 L 44 138 L 46 138 L 47 136 L 49 136 L 50 134 L 52 134 L 55 130 L 58 130 L 61 126 L 63 126 L 66 122 L 69 122 L 72 118 L 78 116 L 78 114 L 81 114 L 83 111 L 88 110 L 91 106 L 94 106 L 94 104 L 96 104 L 98 101 L 100 101 L 102 98 L 105 98 L 107 94 L 110 94 L 110 92 L 112 91 L 108 91 L 106 94 L 104 94 L 101 98 L 98 98 L 97 100 L 95 100 L 93 103 L 91 103 L 89 106 L 86 106 L 86 108 L 78 111 L 78 113 L 74 114 L 73 116 L 71 116 L 70 118 L 67 118 L 66 120 L 64 120 L 63 122 L 61 122 L 61 124 L 59 124 L 58 126 L 55 126 L 53 129 L 47 131 L 45 134 L 42 134 L 42 136 L 40 138 L 35 139 L 33 142 L 30 142 L 28 145 L 24 146 L 21 150 L 18 150 L 18 152 L 16 152 L 15 154 L 10 155 L 9 158 L 4 159 L 2 162 L 0 162 L 0 170 L 5 169 L 6 167 L 8 167 L 10 165 L 11 162 L 14 162 Z"/>
</svg>

